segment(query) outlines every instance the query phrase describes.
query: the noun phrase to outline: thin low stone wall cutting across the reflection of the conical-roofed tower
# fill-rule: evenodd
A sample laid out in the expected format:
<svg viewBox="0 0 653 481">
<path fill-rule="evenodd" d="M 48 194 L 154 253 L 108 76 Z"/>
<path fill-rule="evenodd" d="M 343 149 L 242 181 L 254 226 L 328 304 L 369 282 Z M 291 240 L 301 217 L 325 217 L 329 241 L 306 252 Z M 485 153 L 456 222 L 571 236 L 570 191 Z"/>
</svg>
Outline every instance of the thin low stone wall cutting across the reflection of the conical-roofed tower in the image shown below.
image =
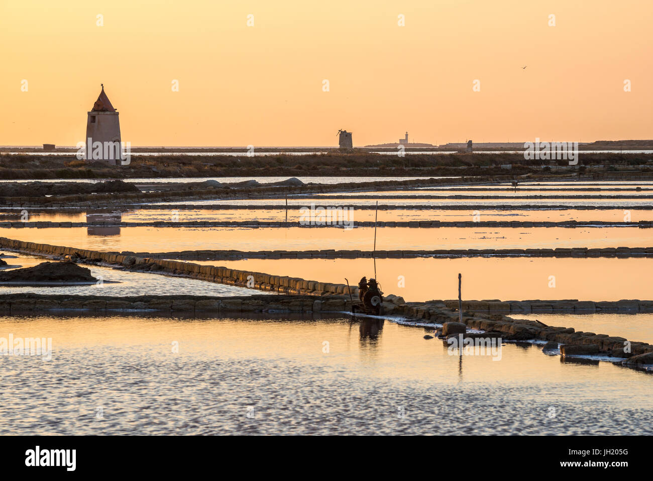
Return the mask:
<svg viewBox="0 0 653 481">
<path fill-rule="evenodd" d="M 185 221 L 185 222 L 118 222 L 118 221 L 103 221 L 103 222 L 50 222 L 50 221 L 37 221 L 37 222 L 0 222 L 0 228 L 22 229 L 36 227 L 37 229 L 51 229 L 51 228 L 67 228 L 67 227 L 343 227 L 342 223 L 336 222 L 336 214 L 332 214 L 334 219 L 333 223 L 325 224 L 302 224 L 299 221 L 295 222 L 281 222 L 281 221 L 259 221 L 259 220 L 245 220 L 245 221 Z M 650 229 L 653 227 L 653 221 L 640 220 L 639 222 L 609 222 L 603 220 L 590 220 L 590 221 L 561 221 L 561 222 L 545 222 L 545 221 L 459 221 L 459 222 L 442 222 L 439 220 L 411 220 L 411 221 L 364 221 L 355 222 L 351 220 L 353 227 L 412 227 L 412 228 L 432 228 L 432 227 L 474 227 L 474 228 L 490 228 L 490 227 L 513 227 L 513 228 L 530 228 L 530 227 L 640 227 Z"/>
</svg>

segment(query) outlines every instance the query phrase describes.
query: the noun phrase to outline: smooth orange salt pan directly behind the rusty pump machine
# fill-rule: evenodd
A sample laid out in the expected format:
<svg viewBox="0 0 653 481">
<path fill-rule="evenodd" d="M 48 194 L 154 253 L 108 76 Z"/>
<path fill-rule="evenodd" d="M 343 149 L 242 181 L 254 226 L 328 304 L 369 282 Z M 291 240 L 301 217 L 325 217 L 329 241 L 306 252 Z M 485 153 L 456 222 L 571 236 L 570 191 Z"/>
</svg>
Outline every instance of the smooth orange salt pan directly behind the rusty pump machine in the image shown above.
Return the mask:
<svg viewBox="0 0 653 481">
<path fill-rule="evenodd" d="M 463 299 L 653 299 L 653 259 L 629 257 L 460 257 L 437 259 L 246 259 L 192 261 L 233 269 L 301 277 L 320 282 L 358 284 L 375 277 L 385 293 L 406 301 L 457 299 L 458 273 Z M 552 284 L 551 276 L 554 277 Z M 554 286 L 554 287 L 550 287 Z M 545 322 L 547 323 L 547 322 Z M 547 323 L 548 324 L 548 323 Z"/>
</svg>

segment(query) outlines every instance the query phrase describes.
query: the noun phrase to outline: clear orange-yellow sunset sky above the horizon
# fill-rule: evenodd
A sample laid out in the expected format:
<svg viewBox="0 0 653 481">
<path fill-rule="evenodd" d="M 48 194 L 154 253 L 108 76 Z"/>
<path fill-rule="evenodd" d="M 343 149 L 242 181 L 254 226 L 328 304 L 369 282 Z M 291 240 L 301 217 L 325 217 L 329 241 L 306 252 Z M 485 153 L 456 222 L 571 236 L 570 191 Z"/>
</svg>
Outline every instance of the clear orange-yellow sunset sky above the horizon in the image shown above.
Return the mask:
<svg viewBox="0 0 653 481">
<path fill-rule="evenodd" d="M 653 139 L 652 19 L 650 0 L 0 0 L 0 144 L 82 141 L 101 82 L 133 146 Z"/>
</svg>

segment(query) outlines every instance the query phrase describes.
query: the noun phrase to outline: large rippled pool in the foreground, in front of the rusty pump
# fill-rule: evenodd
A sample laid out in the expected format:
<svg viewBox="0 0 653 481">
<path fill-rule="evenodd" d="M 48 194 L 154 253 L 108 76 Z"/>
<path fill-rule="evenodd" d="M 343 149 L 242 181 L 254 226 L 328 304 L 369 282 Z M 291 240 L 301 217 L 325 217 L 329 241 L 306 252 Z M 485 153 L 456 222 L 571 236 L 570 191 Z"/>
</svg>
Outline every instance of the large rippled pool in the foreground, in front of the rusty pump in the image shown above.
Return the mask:
<svg viewBox="0 0 653 481">
<path fill-rule="evenodd" d="M 0 356 L 0 434 L 653 434 L 651 374 L 374 323 L 0 318 L 52 337 L 50 361 Z"/>
</svg>

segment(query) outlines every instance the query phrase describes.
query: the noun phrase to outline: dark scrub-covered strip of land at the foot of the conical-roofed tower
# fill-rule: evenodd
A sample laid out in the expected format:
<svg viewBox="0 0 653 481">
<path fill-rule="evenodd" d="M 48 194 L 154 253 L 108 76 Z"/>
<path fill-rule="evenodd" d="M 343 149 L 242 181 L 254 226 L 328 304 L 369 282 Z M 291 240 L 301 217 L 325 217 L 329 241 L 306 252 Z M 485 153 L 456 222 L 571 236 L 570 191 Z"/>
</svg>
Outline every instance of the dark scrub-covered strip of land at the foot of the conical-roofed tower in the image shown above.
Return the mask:
<svg viewBox="0 0 653 481">
<path fill-rule="evenodd" d="M 370 152 L 270 156 L 161 155 L 133 156 L 129 165 L 87 163 L 70 155 L 2 154 L 3 180 L 219 178 L 219 177 L 448 177 L 524 176 L 541 174 L 653 173 L 653 154 L 579 153 L 577 165 L 567 160 L 526 160 L 523 152 L 441 153 L 416 152 L 406 156 Z"/>
</svg>

